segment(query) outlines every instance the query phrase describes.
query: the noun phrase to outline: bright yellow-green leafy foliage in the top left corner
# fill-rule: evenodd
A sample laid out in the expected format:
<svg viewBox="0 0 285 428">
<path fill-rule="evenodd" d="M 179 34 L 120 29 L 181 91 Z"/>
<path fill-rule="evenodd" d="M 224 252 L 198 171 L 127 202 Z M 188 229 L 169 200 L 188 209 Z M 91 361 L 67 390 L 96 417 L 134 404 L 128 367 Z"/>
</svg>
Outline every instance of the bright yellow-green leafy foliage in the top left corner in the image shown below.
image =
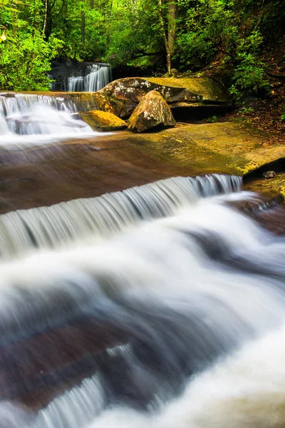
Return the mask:
<svg viewBox="0 0 285 428">
<path fill-rule="evenodd" d="M 14 4 L 6 0 L 0 4 L 0 88 L 48 91 L 50 61 L 58 54 L 61 41 L 55 37 L 43 40 L 41 1 L 18 1 L 20 9 L 15 9 Z"/>
</svg>

